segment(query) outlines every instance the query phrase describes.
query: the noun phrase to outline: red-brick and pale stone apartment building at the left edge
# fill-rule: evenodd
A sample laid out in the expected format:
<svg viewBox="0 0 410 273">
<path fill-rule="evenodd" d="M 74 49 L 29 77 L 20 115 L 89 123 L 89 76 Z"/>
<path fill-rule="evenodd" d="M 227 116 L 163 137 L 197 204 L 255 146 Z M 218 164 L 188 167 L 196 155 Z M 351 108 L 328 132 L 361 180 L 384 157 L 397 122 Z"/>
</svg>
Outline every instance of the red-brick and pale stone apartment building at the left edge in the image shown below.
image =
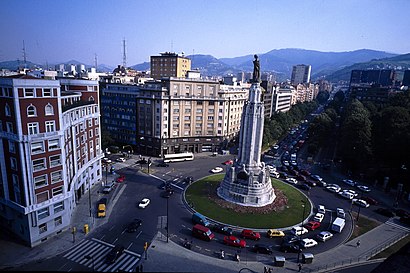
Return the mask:
<svg viewBox="0 0 410 273">
<path fill-rule="evenodd" d="M 0 96 L 0 226 L 34 246 L 101 180 L 98 83 L 17 75 Z"/>
</svg>

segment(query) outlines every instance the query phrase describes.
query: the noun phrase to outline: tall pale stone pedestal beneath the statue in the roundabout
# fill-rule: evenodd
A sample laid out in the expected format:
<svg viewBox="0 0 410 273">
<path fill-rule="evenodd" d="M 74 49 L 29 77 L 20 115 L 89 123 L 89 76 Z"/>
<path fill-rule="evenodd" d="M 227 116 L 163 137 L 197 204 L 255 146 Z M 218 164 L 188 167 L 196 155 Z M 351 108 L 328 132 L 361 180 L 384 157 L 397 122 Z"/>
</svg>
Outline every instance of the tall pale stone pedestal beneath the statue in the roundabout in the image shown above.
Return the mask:
<svg viewBox="0 0 410 273">
<path fill-rule="evenodd" d="M 253 83 L 242 113 L 238 159 L 217 190 L 219 197 L 243 206 L 262 207 L 276 198 L 269 170 L 260 161 L 264 120 L 261 95 L 259 83 Z"/>
</svg>

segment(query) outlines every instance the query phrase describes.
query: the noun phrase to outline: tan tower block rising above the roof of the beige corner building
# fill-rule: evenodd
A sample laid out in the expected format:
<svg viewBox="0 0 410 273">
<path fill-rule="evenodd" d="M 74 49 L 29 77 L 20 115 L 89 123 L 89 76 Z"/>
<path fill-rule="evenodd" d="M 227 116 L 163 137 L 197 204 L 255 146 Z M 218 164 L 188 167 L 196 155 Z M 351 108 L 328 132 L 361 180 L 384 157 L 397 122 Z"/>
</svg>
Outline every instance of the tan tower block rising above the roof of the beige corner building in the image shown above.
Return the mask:
<svg viewBox="0 0 410 273">
<path fill-rule="evenodd" d="M 160 53 L 160 56 L 151 56 L 151 77 L 154 79 L 185 78 L 189 70 L 191 70 L 191 60 L 183 55 L 165 52 Z"/>
</svg>

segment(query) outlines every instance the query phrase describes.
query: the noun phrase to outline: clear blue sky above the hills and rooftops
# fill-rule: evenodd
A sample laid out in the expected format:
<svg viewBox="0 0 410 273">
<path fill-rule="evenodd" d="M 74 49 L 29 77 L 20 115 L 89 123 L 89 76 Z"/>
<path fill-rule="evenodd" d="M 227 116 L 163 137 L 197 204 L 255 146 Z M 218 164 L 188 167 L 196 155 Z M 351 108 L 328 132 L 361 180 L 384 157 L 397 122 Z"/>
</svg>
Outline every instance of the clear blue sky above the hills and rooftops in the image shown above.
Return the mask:
<svg viewBox="0 0 410 273">
<path fill-rule="evenodd" d="M 1 0 L 0 61 L 116 66 L 160 52 L 410 52 L 409 0 Z"/>
</svg>

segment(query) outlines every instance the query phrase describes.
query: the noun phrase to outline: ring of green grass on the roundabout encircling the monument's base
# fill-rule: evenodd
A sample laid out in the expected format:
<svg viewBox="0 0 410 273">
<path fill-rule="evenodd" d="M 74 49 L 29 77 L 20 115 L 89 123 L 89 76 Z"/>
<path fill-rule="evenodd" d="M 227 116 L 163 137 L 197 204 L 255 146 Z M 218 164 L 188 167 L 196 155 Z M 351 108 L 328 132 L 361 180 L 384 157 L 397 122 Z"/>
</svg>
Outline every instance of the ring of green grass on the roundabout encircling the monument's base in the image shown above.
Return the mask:
<svg viewBox="0 0 410 273">
<path fill-rule="evenodd" d="M 223 178 L 224 174 L 212 175 L 190 185 L 185 192 L 188 204 L 193 205 L 196 211 L 215 221 L 232 226 L 258 229 L 284 228 L 300 223 L 303 214 L 301 200 L 306 204 L 305 218 L 311 211 L 311 204 L 305 195 L 276 179 L 272 179 L 273 188 L 281 190 L 288 198 L 288 204 L 283 210 L 267 214 L 255 214 L 237 213 L 232 209 L 222 208 L 210 196 L 215 194 Z"/>
</svg>

